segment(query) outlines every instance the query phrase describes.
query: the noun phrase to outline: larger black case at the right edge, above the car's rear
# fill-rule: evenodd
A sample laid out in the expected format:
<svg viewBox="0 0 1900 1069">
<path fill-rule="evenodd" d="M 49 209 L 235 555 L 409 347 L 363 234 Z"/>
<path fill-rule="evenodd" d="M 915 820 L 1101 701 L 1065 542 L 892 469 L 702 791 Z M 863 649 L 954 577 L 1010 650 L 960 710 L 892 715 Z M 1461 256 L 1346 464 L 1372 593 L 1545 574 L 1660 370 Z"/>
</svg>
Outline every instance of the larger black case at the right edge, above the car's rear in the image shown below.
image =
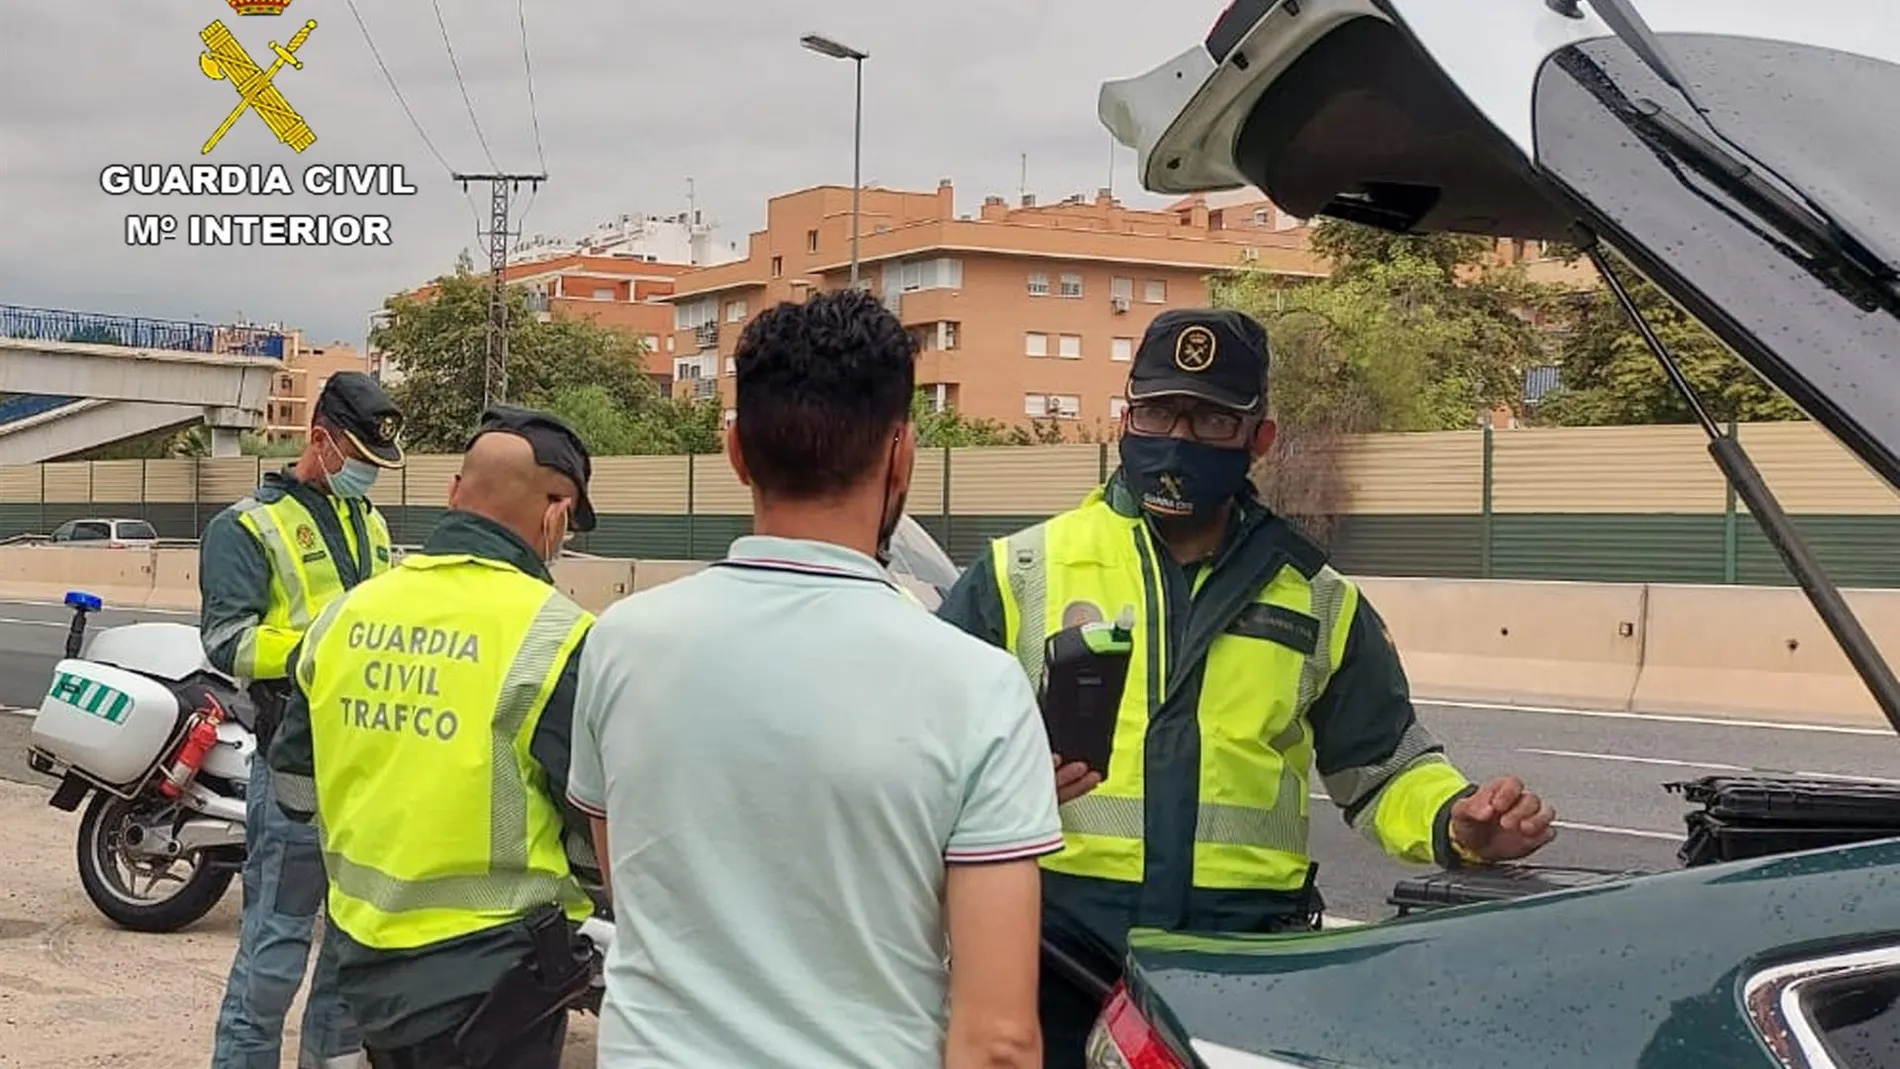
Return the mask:
<svg viewBox="0 0 1900 1069">
<path fill-rule="evenodd" d="M 1900 835 L 1900 784 L 1752 775 L 1664 786 L 1700 807 L 1683 815 L 1687 868 Z"/>
</svg>

